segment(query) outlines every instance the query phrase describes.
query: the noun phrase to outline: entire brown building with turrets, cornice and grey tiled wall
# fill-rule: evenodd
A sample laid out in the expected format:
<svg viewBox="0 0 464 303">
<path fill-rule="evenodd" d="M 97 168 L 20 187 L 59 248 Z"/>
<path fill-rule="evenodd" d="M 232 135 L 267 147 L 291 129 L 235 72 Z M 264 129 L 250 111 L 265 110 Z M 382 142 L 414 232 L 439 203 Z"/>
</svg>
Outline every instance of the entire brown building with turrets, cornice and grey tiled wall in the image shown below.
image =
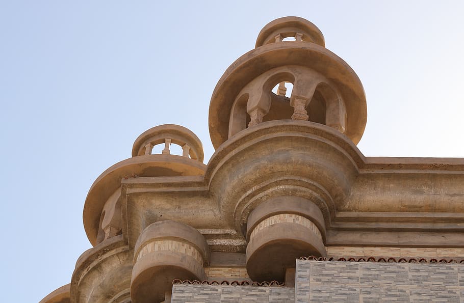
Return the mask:
<svg viewBox="0 0 464 303">
<path fill-rule="evenodd" d="M 319 29 L 268 23 L 213 92 L 208 165 L 190 130 L 143 132 L 89 190 L 94 247 L 41 302 L 464 301 L 464 160 L 365 157 L 366 121 Z"/>
</svg>

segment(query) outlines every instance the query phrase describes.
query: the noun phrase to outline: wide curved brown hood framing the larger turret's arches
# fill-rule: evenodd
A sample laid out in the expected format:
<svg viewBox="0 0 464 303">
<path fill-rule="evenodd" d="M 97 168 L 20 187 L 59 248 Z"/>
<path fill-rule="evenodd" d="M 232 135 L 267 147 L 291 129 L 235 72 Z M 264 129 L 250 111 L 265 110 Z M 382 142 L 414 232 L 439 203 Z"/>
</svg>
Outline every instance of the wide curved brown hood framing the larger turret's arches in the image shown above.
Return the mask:
<svg viewBox="0 0 464 303">
<path fill-rule="evenodd" d="M 310 67 L 323 74 L 339 89 L 346 102 L 346 135 L 357 144 L 367 121 L 363 85 L 351 67 L 328 49 L 314 43 L 287 41 L 271 43 L 245 53 L 219 79 L 210 102 L 209 128 L 215 149 L 227 141 L 232 105 L 238 93 L 252 79 L 280 66 Z"/>
</svg>

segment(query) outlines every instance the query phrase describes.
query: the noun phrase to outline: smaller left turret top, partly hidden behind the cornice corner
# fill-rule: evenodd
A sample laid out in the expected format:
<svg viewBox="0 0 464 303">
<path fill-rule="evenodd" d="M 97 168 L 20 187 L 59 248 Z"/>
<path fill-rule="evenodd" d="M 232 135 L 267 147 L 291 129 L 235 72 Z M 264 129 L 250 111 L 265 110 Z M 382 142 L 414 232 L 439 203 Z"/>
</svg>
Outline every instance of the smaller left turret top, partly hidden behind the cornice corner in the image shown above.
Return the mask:
<svg viewBox="0 0 464 303">
<path fill-rule="evenodd" d="M 170 154 L 170 144 L 182 146 L 183 155 Z M 151 154 L 164 144 L 162 154 Z M 206 169 L 198 137 L 183 126 L 160 125 L 142 133 L 134 143 L 132 158 L 114 164 L 93 182 L 84 204 L 84 228 L 92 245 L 122 232 L 121 180 L 137 177 L 201 176 Z"/>
</svg>

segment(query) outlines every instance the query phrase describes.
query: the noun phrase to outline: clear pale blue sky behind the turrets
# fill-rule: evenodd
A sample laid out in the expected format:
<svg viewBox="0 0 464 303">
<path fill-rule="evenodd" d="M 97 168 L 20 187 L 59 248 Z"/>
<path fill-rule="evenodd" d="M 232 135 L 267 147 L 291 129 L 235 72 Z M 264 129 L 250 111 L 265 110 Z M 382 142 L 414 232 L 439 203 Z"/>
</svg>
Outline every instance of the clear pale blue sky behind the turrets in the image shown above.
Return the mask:
<svg viewBox="0 0 464 303">
<path fill-rule="evenodd" d="M 208 161 L 216 82 L 278 17 L 315 23 L 362 80 L 366 156 L 464 157 L 463 3 L 0 1 L 2 300 L 70 282 L 87 191 L 140 133 L 186 126 Z"/>
</svg>

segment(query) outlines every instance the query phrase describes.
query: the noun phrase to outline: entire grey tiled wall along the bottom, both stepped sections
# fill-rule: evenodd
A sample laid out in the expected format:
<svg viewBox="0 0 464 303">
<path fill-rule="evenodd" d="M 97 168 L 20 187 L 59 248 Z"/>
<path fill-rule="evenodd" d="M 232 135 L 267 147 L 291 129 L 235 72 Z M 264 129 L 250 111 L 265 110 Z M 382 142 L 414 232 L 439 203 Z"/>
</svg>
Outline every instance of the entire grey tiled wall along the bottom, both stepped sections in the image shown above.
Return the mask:
<svg viewBox="0 0 464 303">
<path fill-rule="evenodd" d="M 464 264 L 297 260 L 291 287 L 173 286 L 172 302 L 461 302 Z"/>
</svg>

